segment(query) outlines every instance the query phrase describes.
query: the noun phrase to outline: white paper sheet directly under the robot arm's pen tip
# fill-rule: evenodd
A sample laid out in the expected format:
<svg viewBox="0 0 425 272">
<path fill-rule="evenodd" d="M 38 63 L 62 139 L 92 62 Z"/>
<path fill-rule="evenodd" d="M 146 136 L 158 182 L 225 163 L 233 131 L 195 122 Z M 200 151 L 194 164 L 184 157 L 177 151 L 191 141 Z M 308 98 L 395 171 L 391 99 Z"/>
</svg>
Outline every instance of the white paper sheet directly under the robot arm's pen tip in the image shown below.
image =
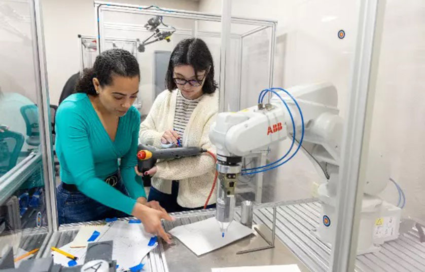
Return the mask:
<svg viewBox="0 0 425 272">
<path fill-rule="evenodd" d="M 224 247 L 252 233 L 251 228 L 233 221 L 223 238 L 215 217 L 170 230 L 171 235 L 182 241 L 197 256 Z"/>
</svg>

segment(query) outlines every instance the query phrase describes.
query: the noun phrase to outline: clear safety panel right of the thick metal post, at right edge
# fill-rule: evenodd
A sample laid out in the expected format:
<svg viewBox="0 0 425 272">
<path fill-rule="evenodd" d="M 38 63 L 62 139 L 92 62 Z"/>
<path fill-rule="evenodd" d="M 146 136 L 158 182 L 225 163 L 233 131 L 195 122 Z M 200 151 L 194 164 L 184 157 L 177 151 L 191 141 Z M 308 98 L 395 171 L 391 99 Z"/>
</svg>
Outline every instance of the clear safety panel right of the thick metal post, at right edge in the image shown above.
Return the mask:
<svg viewBox="0 0 425 272">
<path fill-rule="evenodd" d="M 420 1 L 380 4 L 371 72 L 374 101 L 366 115 L 371 122 L 370 134 L 365 135 L 369 148 L 361 166 L 366 172 L 365 191 L 379 192 L 378 198 L 365 197 L 364 202 L 378 201 L 378 209 L 371 219 L 362 213 L 357 250 L 365 254 L 358 256 L 357 265 L 373 271 L 422 271 L 425 36 L 417 34 L 425 33 L 425 5 Z M 413 132 L 408 140 L 407 131 Z M 373 245 L 364 234 L 371 235 Z"/>
</svg>

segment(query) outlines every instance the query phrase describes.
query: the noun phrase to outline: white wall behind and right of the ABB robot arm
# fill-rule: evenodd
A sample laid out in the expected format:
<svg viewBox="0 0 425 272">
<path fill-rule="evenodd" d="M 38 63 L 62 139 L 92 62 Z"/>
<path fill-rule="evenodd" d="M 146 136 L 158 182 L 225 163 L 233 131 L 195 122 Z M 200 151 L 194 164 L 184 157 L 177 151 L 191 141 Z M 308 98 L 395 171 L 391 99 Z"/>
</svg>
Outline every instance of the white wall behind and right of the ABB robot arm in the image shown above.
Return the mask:
<svg viewBox="0 0 425 272">
<path fill-rule="evenodd" d="M 221 4 L 201 0 L 199 10 L 220 13 Z M 278 20 L 275 86 L 330 81 L 338 89 L 346 115 L 351 59 L 357 28 L 358 1 L 234 0 L 232 15 Z M 379 62 L 370 146 L 391 163 L 389 175 L 405 189 L 404 216 L 425 221 L 425 2 L 388 0 Z M 337 38 L 343 29 L 346 37 Z M 260 90 L 259 90 L 260 91 Z M 282 150 L 289 146 L 282 144 Z M 373 166 L 376 171 L 385 169 Z M 313 182 L 323 181 L 299 154 L 266 175 L 275 182 L 276 199 L 311 196 Z M 382 196 L 392 203 L 397 191 L 388 184 Z"/>
</svg>

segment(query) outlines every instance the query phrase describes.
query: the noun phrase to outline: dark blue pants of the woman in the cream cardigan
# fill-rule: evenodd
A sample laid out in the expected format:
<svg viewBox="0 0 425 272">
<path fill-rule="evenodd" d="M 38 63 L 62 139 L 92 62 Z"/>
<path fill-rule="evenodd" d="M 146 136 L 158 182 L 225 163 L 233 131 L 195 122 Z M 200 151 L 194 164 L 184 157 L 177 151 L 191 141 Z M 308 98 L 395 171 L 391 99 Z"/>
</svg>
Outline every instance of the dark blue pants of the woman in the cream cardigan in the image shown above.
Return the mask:
<svg viewBox="0 0 425 272">
<path fill-rule="evenodd" d="M 197 207 L 197 208 L 186 208 L 186 207 L 180 206 L 177 203 L 178 194 L 179 194 L 179 183 L 177 181 L 172 181 L 171 195 L 168 193 L 161 192 L 151 186 L 151 189 L 149 190 L 148 201 L 152 201 L 152 200 L 158 201 L 159 205 L 161 205 L 161 207 L 164 208 L 169 213 L 200 210 L 204 208 L 203 206 Z M 216 204 L 208 205 L 206 206 L 206 208 L 207 209 L 216 208 Z"/>
</svg>

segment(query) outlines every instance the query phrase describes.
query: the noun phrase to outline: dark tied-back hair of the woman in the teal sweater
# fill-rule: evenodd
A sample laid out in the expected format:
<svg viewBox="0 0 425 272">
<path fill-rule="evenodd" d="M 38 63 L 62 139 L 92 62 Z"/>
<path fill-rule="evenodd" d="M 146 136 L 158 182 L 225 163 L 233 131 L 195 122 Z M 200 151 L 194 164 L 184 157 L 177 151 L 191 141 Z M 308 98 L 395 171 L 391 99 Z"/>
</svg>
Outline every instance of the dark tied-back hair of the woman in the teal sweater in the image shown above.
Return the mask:
<svg viewBox="0 0 425 272">
<path fill-rule="evenodd" d="M 93 78 L 99 80 L 100 86 L 110 85 L 112 75 L 126 77 L 138 76 L 140 79 L 140 69 L 137 59 L 130 52 L 124 49 L 110 49 L 103 51 L 96 57 L 93 68 L 84 69 L 83 75 L 77 82 L 75 91 L 97 95 L 93 86 Z"/>
</svg>

